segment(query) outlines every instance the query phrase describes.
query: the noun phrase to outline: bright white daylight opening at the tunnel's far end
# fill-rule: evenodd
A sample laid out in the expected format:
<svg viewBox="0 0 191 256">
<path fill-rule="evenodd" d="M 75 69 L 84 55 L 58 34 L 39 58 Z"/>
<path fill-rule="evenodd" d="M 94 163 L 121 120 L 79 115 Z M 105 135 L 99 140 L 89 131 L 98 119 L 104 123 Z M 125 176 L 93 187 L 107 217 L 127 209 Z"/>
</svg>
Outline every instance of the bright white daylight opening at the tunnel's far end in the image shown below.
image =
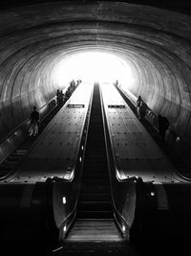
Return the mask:
<svg viewBox="0 0 191 256">
<path fill-rule="evenodd" d="M 59 85 L 68 81 L 131 82 L 132 70 L 116 55 L 87 52 L 63 58 L 56 65 L 55 79 Z"/>
</svg>

